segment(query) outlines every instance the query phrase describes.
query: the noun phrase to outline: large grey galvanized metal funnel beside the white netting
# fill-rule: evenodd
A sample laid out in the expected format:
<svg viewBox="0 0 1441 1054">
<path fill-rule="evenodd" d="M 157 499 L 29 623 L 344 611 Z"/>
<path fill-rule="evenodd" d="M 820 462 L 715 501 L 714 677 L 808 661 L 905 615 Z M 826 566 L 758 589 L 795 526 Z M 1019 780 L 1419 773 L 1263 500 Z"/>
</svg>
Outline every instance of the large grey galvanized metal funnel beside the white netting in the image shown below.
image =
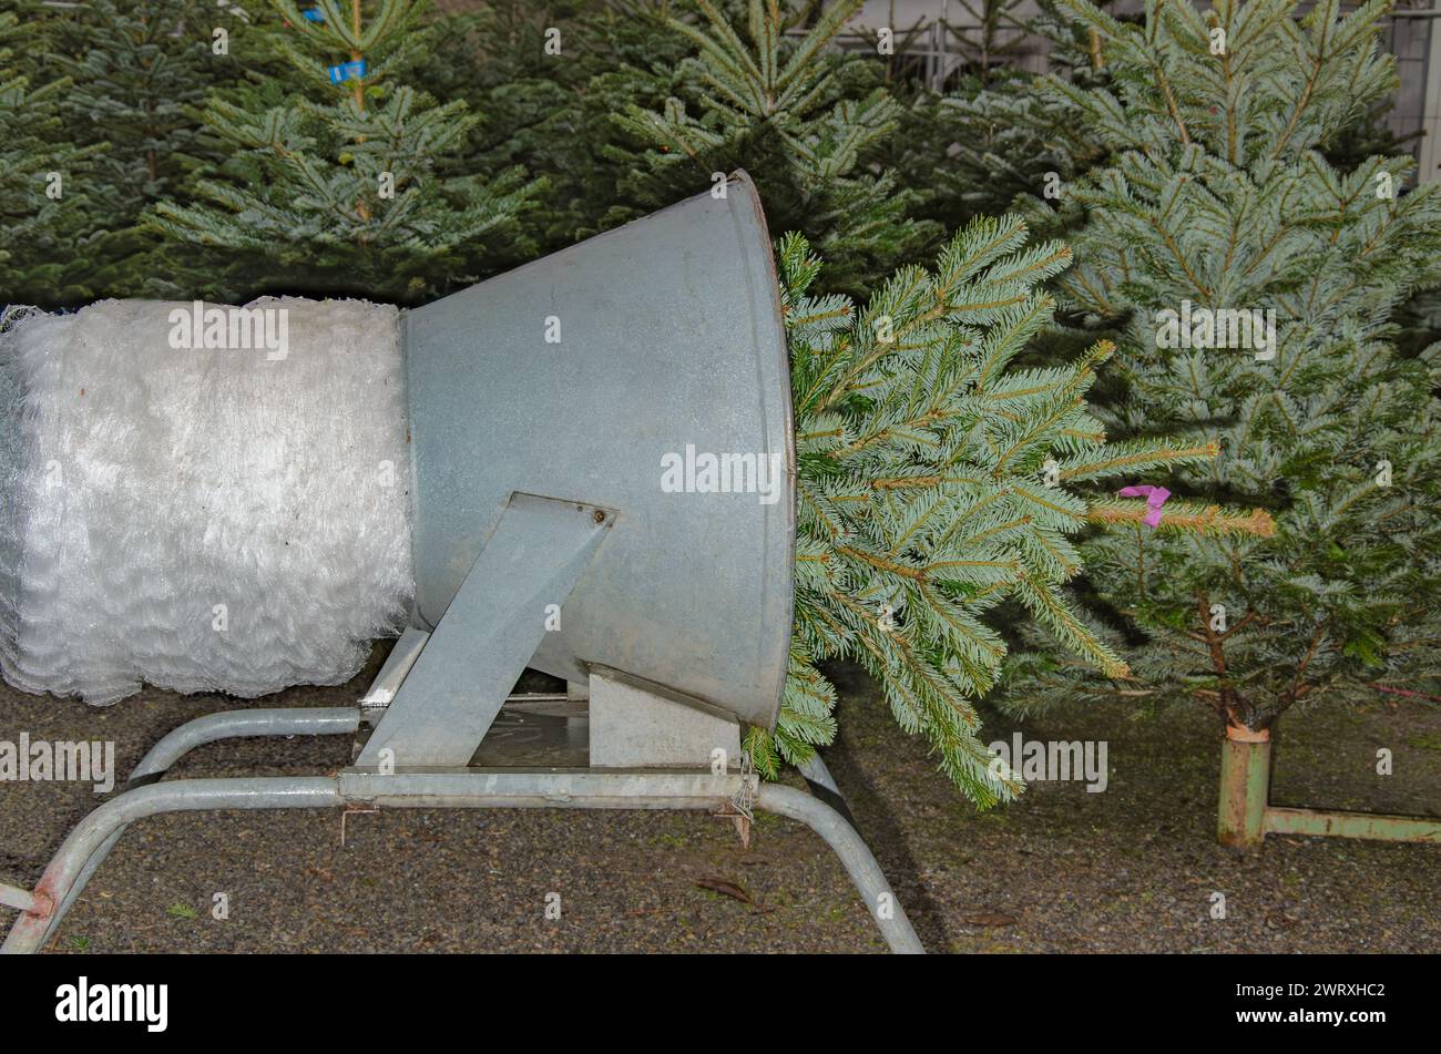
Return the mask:
<svg viewBox="0 0 1441 1054">
<path fill-rule="evenodd" d="M 749 177 L 411 311 L 402 327 L 416 625 L 438 625 L 513 495 L 605 510 L 611 530 L 585 543 L 598 549 L 529 665 L 571 681 L 614 668 L 772 727 L 795 451 Z"/>
</svg>

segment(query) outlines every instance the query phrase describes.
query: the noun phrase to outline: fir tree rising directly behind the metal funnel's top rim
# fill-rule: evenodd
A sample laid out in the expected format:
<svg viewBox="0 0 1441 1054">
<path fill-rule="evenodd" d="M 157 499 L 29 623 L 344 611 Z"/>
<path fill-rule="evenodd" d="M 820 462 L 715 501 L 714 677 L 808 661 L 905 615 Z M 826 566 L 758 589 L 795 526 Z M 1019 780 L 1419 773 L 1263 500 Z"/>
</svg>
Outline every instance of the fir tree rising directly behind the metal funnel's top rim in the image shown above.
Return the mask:
<svg viewBox="0 0 1441 1054">
<path fill-rule="evenodd" d="M 906 215 L 916 196 L 895 173 L 872 170 L 901 107 L 878 82 L 878 63 L 826 50 L 860 1 L 830 4 L 798 39 L 787 30 L 808 4 L 749 0 L 744 27 L 708 0 L 696 0 L 695 20 L 667 17 L 695 53 L 672 73 L 651 73 L 674 92 L 663 107 L 633 102 L 615 115 L 647 144 L 623 196 L 647 210 L 744 167 L 772 226 L 806 233 L 833 261 L 834 288 L 859 288 L 912 259 L 940 228 Z"/>
</svg>

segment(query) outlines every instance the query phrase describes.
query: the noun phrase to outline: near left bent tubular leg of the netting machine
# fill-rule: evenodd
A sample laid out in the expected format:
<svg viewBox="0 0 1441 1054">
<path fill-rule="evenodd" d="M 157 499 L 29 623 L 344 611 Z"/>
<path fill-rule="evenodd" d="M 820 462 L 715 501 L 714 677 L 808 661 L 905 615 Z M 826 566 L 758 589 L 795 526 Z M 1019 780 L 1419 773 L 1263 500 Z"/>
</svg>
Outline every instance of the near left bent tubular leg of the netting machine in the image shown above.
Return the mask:
<svg viewBox="0 0 1441 1054">
<path fill-rule="evenodd" d="M 125 790 L 79 822 L 35 887 L 36 909 L 23 913 L 0 945 L 0 953 L 36 952 L 50 927 L 50 914 L 79 891 L 85 864 L 125 825 L 161 812 L 199 809 L 320 809 L 343 805 L 330 776 L 267 776 L 261 779 L 176 779 Z M 50 909 L 46 911 L 46 909 Z"/>
</svg>

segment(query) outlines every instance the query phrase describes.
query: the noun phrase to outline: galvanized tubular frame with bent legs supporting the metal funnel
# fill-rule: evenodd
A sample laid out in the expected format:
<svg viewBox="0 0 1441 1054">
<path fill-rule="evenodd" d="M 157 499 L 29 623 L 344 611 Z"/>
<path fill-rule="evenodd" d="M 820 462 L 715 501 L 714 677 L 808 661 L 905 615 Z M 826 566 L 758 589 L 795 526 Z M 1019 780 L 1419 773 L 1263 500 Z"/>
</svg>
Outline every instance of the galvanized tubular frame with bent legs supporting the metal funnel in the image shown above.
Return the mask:
<svg viewBox="0 0 1441 1054">
<path fill-rule="evenodd" d="M 210 809 L 316 809 L 347 805 L 392 808 L 695 809 L 732 812 L 738 801 L 797 819 L 840 858 L 898 953 L 924 953 L 880 865 L 834 809 L 794 788 L 759 783 L 754 775 L 709 772 L 457 769 L 382 776 L 349 769 L 336 776 L 265 776 L 160 780 L 189 750 L 242 736 L 346 734 L 360 708 L 239 710 L 184 724 L 160 740 L 131 775 L 127 789 L 91 812 L 61 845 L 33 893 L 0 886 L 0 903 L 22 909 L 3 953 L 39 950 L 55 933 L 91 875 L 125 828 L 163 812 Z"/>
</svg>

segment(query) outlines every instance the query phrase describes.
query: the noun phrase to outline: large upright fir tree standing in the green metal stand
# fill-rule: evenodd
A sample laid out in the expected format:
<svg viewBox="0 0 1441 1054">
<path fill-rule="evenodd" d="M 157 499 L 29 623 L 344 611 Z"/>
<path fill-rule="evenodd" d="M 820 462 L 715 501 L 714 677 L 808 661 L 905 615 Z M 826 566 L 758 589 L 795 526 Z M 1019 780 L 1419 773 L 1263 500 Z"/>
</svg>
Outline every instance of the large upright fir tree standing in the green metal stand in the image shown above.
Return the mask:
<svg viewBox="0 0 1441 1054">
<path fill-rule="evenodd" d="M 1153 0 L 1143 26 L 1059 6 L 1112 82 L 1040 89 L 1114 157 L 1065 189 L 1079 266 L 1056 281 L 1063 307 L 1117 334 L 1121 387 L 1101 412 L 1118 435 L 1215 442 L 1215 462 L 1169 487 L 1270 510 L 1278 528 L 1088 541 L 1088 586 L 1134 645 L 1133 677 L 1032 652 L 1014 701 L 1193 698 L 1259 730 L 1378 684 L 1435 694 L 1441 346 L 1398 356 L 1389 320 L 1441 279 L 1441 199 L 1399 193 L 1409 158 L 1347 171 L 1319 151 L 1395 88 L 1385 4 L 1342 17 L 1323 0 L 1297 22 L 1291 0 Z M 1221 310 L 1274 311 L 1274 343 L 1262 327 L 1236 348 L 1245 331 L 1218 331 Z"/>
</svg>

